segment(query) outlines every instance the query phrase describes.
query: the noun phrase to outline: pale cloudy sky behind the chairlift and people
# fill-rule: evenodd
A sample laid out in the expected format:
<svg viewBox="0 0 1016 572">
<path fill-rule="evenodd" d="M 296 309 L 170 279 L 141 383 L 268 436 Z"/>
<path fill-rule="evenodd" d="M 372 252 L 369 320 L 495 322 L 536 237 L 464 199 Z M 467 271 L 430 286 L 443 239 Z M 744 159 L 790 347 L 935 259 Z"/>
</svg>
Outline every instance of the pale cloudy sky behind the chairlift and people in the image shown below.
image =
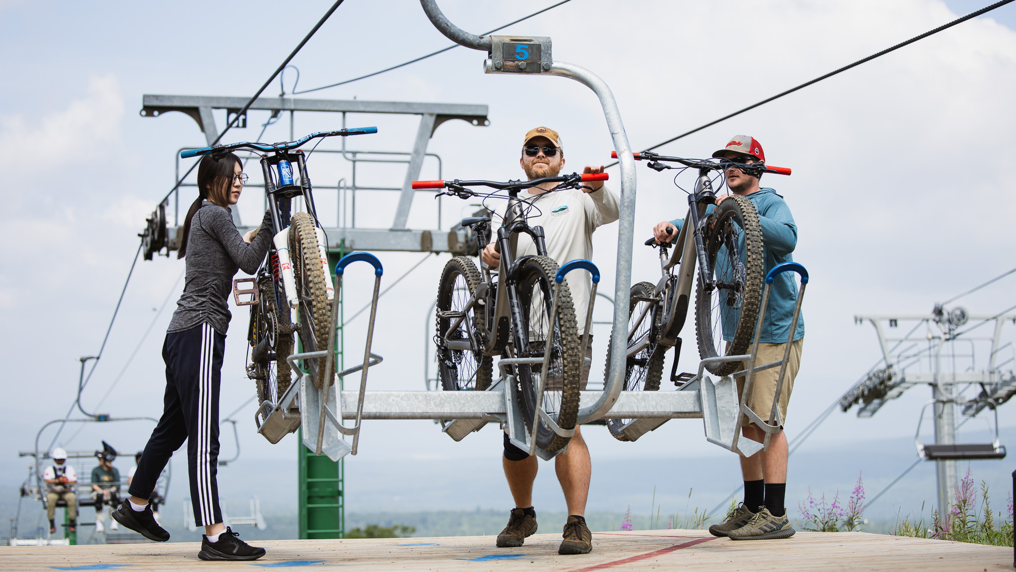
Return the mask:
<svg viewBox="0 0 1016 572">
<path fill-rule="evenodd" d="M 441 6 L 460 27 L 479 34 L 550 3 L 444 0 Z M 0 431 L 8 436 L 0 444 L 4 485 L 23 478 L 25 461 L 16 451 L 30 449 L 42 424 L 63 417 L 71 405 L 77 358 L 99 351 L 137 232 L 173 185 L 174 154 L 204 144 L 196 123 L 184 114 L 141 117 L 142 95 L 249 97 L 328 5 L 305 2 L 300 10 L 283 11 L 260 1 L 0 0 L 6 71 L 0 88 L 0 151 L 8 158 L 0 218 L 5 243 L 14 246 L 0 268 L 5 317 L 0 343 L 10 365 L 2 382 L 7 399 L 0 404 Z M 644 149 L 979 7 L 967 0 L 573 0 L 509 31 L 553 37 L 556 60 L 602 77 L 617 97 L 633 148 Z M 1011 105 L 1014 26 L 1016 7 L 1005 6 L 660 150 L 705 157 L 732 134 L 745 133 L 764 146 L 769 163 L 793 169 L 791 177 L 763 179 L 789 205 L 799 225 L 795 259 L 812 275 L 805 300 L 808 336 L 787 421 L 791 438 L 878 358 L 873 330 L 854 325 L 854 314 L 925 313 L 937 300 L 1016 266 L 1011 230 L 1016 204 L 1009 180 L 1014 160 L 1007 134 L 1016 119 Z M 298 88 L 356 77 L 448 43 L 414 0 L 347 0 L 294 59 L 301 73 Z M 431 139 L 429 151 L 440 155 L 445 178 L 521 176 L 518 146 L 522 134 L 537 125 L 561 132 L 568 169 L 609 162 L 613 147 L 591 92 L 560 77 L 485 75 L 482 60 L 482 54 L 458 48 L 299 97 L 489 105 L 490 126 L 451 121 Z M 288 93 L 295 76 L 287 72 Z M 276 80 L 265 95 L 278 92 Z M 266 119 L 267 113 L 252 112 L 249 126 L 225 139 L 253 140 Z M 224 125 L 225 115 L 216 122 Z M 415 117 L 351 116 L 350 125 L 378 125 L 380 132 L 347 145 L 408 151 L 416 122 Z M 303 114 L 293 129 L 299 136 L 338 126 L 338 116 Z M 290 128 L 283 118 L 267 128 L 264 139 L 288 139 Z M 326 184 L 350 176 L 348 166 L 334 156 L 314 157 L 310 168 L 312 178 Z M 616 177 L 618 171 L 611 173 Z M 381 166 L 358 176 L 361 184 L 398 186 L 403 171 Z M 437 164 L 429 160 L 422 178 L 437 176 Z M 669 176 L 640 168 L 637 189 L 638 236 L 648 235 L 659 220 L 683 215 L 684 193 Z M 185 189 L 182 210 L 192 196 Z M 392 197 L 362 195 L 358 224 L 387 227 Z M 323 213 L 334 213 L 334 192 L 319 192 L 318 205 Z M 262 206 L 259 189 L 251 186 L 241 199 L 241 215 L 256 220 Z M 446 199 L 442 209 L 443 228 L 472 210 L 457 199 Z M 334 221 L 333 214 L 323 217 L 326 224 Z M 437 225 L 434 202 L 418 196 L 410 226 Z M 607 292 L 613 290 L 616 228 L 605 227 L 594 236 L 594 262 L 604 270 L 601 290 Z M 640 243 L 634 247 L 633 277 L 655 281 L 653 252 Z M 379 255 L 388 283 L 423 256 Z M 426 308 L 447 258 L 426 261 L 383 298 L 375 351 L 386 362 L 372 369 L 370 388 L 423 389 Z M 82 394 L 86 410 L 121 417 L 161 413 L 160 348 L 182 271 L 183 263 L 175 258 L 138 263 L 106 352 Z M 1016 303 L 1012 280 L 956 303 L 971 313 L 1000 311 Z M 366 303 L 370 284 L 366 273 L 351 271 L 348 281 L 347 314 Z M 607 305 L 600 311 L 609 311 Z M 246 312 L 235 311 L 223 369 L 224 415 L 253 394 L 243 373 L 246 327 Z M 365 327 L 362 318 L 348 325 L 345 343 L 353 354 L 362 347 Z M 1006 341 L 1013 328 L 1004 330 Z M 608 331 L 597 331 L 594 373 Z M 685 370 L 693 369 L 696 357 L 691 337 L 689 325 Z M 928 397 L 927 389 L 915 388 L 871 419 L 837 411 L 809 447 L 912 435 Z M 1011 408 L 1001 409 L 1003 426 L 1013 424 Z M 252 414 L 253 405 L 237 414 L 244 458 L 289 466 L 295 439 L 268 445 L 254 434 Z M 983 428 L 982 421 L 976 423 Z M 144 445 L 150 423 L 88 426 L 79 434 L 77 428 L 65 430 L 58 443 L 87 450 L 107 439 L 121 451 L 135 451 Z M 672 421 L 635 444 L 616 443 L 597 430 L 587 432 L 597 459 L 729 455 L 705 443 L 698 421 Z M 362 453 L 346 470 L 355 474 L 361 459 L 493 459 L 496 434 L 488 428 L 456 444 L 429 421 L 368 422 Z M 41 447 L 53 435 L 51 427 Z M 873 470 L 891 479 L 910 460 Z M 738 479 L 729 475 L 733 483 Z M 843 481 L 845 488 L 852 478 Z M 498 493 L 499 500 L 483 504 L 500 506 L 502 497 Z"/>
</svg>

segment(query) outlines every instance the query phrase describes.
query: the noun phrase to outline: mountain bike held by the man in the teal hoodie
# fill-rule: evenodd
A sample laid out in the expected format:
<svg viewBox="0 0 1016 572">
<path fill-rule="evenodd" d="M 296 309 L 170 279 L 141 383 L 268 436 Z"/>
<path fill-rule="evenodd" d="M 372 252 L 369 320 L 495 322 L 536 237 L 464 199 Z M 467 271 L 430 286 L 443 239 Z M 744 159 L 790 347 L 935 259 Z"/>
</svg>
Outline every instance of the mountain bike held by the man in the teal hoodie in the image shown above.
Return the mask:
<svg viewBox="0 0 1016 572">
<path fill-rule="evenodd" d="M 617 153 L 612 155 L 617 158 Z M 687 318 L 693 280 L 697 278 L 695 337 L 702 359 L 747 352 L 762 295 L 765 261 L 758 212 L 751 201 L 738 194 L 728 195 L 716 206 L 713 177 L 719 179 L 722 188 L 724 173 L 731 167 L 749 175 L 789 175 L 790 169 L 727 159 L 682 159 L 647 151 L 633 155 L 636 161 L 648 161 L 647 166 L 657 172 L 698 170 L 695 185 L 688 193 L 688 214 L 678 235 L 663 244 L 657 244 L 655 238 L 645 241 L 647 246 L 659 248 L 659 281 L 655 285 L 651 282 L 633 285 L 629 301 L 625 391 L 658 390 L 663 357 L 672 347 L 675 349 L 671 381 L 680 388 L 694 377 L 677 374 L 681 354 L 678 336 Z M 740 362 L 731 361 L 705 365 L 717 376 L 731 375 L 740 366 Z M 608 427 L 615 438 L 627 441 L 624 428 L 634 420 L 609 419 Z"/>
</svg>

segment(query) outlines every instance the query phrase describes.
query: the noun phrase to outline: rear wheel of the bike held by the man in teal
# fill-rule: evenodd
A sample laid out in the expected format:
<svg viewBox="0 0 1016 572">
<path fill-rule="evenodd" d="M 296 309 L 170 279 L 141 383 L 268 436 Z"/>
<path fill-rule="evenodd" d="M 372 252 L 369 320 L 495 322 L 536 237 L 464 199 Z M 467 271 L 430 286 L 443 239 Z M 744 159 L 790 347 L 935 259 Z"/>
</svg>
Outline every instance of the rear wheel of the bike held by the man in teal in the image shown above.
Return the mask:
<svg viewBox="0 0 1016 572">
<path fill-rule="evenodd" d="M 625 362 L 624 391 L 657 391 L 663 376 L 663 355 L 665 347 L 657 345 L 659 339 L 659 306 L 638 298 L 652 298 L 655 286 L 649 282 L 639 282 L 632 286 L 628 303 L 628 358 Z M 614 332 L 607 346 L 605 379 L 610 375 Z M 622 430 L 635 419 L 607 419 L 607 428 L 618 441 L 629 441 Z"/>
</svg>

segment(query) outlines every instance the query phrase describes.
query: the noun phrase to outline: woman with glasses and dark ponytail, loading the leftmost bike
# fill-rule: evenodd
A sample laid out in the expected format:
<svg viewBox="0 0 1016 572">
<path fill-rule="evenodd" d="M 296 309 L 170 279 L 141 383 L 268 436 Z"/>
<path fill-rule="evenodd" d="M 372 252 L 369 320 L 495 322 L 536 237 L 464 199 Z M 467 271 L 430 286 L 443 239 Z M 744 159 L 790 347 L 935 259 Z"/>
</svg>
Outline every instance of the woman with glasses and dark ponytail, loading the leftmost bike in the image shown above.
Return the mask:
<svg viewBox="0 0 1016 572">
<path fill-rule="evenodd" d="M 113 513 L 124 526 L 155 541 L 170 533 L 155 522 L 148 502 L 170 456 L 187 441 L 194 523 L 204 526 L 201 560 L 256 560 L 254 548 L 223 524 L 218 507 L 218 391 L 228 296 L 238 270 L 254 274 L 272 238 L 266 212 L 259 229 L 241 236 L 230 208 L 240 199 L 247 175 L 240 158 L 206 155 L 197 171 L 198 197 L 187 211 L 179 259 L 186 256 L 184 292 L 166 334 L 166 396 L 163 417 L 144 447 L 130 484 L 130 499 Z"/>
</svg>

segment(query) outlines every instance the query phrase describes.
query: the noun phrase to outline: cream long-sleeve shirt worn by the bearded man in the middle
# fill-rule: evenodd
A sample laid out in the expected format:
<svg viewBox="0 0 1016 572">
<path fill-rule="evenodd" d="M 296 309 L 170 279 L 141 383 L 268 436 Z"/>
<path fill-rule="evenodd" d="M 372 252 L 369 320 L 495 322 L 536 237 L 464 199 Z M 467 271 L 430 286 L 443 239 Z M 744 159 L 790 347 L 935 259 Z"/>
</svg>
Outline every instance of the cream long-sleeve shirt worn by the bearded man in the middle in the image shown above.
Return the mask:
<svg viewBox="0 0 1016 572">
<path fill-rule="evenodd" d="M 522 193 L 520 193 L 522 194 Z M 530 198 L 522 194 L 525 198 Z M 604 186 L 592 192 L 569 188 L 555 192 L 545 192 L 536 196 L 533 210 L 528 217 L 529 226 L 544 227 L 547 241 L 547 255 L 558 266 L 576 259 L 592 260 L 592 233 L 597 227 L 618 220 L 620 203 L 613 190 Z M 500 217 L 495 214 L 495 222 Z M 518 235 L 516 256 L 535 254 L 536 245 L 527 234 Z M 598 265 L 597 265 L 598 266 Z M 592 281 L 589 273 L 576 270 L 565 277 L 575 305 L 575 321 L 579 334 L 585 334 L 585 314 L 589 307 L 589 291 Z"/>
</svg>

